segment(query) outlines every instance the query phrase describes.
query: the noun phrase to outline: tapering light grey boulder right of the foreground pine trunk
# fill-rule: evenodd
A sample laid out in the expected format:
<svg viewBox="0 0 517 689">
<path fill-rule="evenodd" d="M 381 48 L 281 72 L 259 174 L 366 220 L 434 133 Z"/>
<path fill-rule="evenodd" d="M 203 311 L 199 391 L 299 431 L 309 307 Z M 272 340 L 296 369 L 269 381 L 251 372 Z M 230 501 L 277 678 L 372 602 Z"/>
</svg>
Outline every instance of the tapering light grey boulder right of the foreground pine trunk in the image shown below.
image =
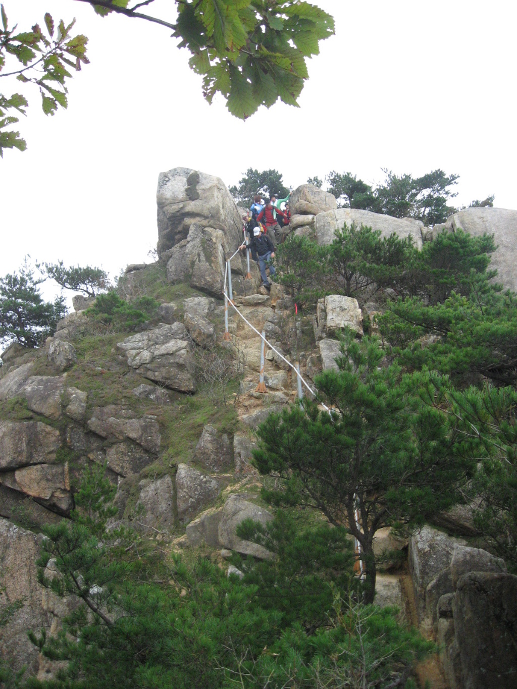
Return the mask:
<svg viewBox="0 0 517 689">
<path fill-rule="evenodd" d="M 440 572 L 449 568 L 455 546 L 465 541 L 423 526 L 409 538 L 409 571 L 412 575 L 418 619 L 425 618 L 425 589 Z"/>
</svg>

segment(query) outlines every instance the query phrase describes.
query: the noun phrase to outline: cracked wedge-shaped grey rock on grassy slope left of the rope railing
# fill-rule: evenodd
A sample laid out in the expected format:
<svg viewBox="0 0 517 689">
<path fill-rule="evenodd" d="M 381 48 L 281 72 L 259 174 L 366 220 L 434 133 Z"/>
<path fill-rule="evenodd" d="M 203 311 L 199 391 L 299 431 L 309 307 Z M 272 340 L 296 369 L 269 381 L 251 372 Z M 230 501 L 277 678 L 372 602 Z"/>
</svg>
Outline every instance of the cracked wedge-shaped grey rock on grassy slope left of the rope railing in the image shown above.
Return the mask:
<svg viewBox="0 0 517 689">
<path fill-rule="evenodd" d="M 160 325 L 126 338 L 117 347 L 128 357 L 128 366 L 142 376 L 179 392 L 194 392 L 192 358 L 183 323 Z"/>
</svg>

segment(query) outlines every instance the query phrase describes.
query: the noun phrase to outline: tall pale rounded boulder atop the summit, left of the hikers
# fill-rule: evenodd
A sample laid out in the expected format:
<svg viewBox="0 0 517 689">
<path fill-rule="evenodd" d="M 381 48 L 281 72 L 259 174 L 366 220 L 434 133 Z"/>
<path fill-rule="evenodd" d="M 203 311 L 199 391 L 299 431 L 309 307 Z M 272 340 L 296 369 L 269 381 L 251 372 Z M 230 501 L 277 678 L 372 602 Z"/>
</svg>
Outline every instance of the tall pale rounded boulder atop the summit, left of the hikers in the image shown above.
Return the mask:
<svg viewBox="0 0 517 689">
<path fill-rule="evenodd" d="M 188 167 L 174 167 L 161 172 L 156 203 L 159 256 L 186 239 L 192 223 L 221 230 L 231 254 L 239 246 L 242 218 L 219 177 Z"/>
</svg>

